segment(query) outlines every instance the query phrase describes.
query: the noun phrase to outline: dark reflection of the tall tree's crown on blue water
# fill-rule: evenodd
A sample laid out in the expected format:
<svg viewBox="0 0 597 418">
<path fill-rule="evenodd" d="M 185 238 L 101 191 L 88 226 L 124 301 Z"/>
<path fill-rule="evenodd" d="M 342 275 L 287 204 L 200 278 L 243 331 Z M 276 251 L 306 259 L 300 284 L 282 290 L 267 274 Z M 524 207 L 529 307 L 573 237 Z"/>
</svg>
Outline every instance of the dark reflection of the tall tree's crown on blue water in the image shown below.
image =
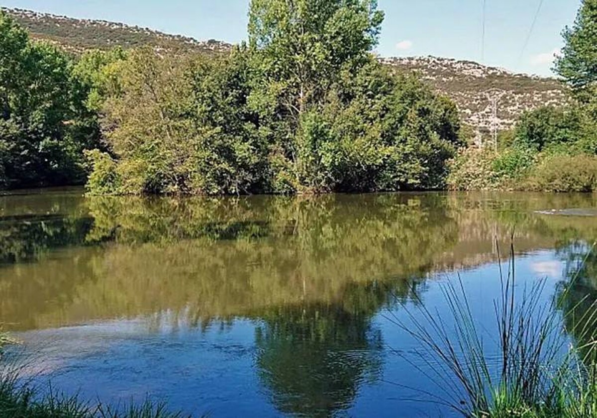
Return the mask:
<svg viewBox="0 0 597 418">
<path fill-rule="evenodd" d="M 281 308 L 257 327 L 259 377 L 279 411 L 332 416 L 349 407 L 381 368 L 381 334 L 370 312 L 335 306 Z"/>
</svg>

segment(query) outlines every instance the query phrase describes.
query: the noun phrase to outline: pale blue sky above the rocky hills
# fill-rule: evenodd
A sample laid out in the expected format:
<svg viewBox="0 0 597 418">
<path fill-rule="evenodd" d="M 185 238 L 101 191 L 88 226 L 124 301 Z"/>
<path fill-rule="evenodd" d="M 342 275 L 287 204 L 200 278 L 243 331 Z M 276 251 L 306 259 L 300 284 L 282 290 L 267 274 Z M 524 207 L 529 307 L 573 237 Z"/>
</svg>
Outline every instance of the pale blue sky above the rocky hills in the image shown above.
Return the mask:
<svg viewBox="0 0 597 418">
<path fill-rule="evenodd" d="M 516 72 L 550 75 L 561 31 L 572 24 L 580 0 L 378 0 L 386 20 L 377 51 L 382 56 L 434 55 L 474 60 Z M 86 19 L 121 21 L 197 39 L 238 42 L 246 37 L 248 0 L 2 0 L 19 7 Z"/>
</svg>

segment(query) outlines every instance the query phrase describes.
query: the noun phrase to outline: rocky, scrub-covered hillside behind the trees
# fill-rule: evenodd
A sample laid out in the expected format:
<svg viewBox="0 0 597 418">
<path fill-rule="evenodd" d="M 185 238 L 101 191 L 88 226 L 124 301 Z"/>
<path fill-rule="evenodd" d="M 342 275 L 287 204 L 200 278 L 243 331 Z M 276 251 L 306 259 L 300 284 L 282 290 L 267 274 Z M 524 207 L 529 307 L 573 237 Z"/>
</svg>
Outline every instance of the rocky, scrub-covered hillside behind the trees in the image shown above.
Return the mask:
<svg viewBox="0 0 597 418">
<path fill-rule="evenodd" d="M 222 53 L 232 48 L 232 45 L 214 39 L 197 41 L 123 23 L 72 19 L 20 9 L 2 10 L 26 27 L 33 38 L 53 42 L 75 53 L 116 45 L 123 48 L 150 45 L 168 51 L 199 53 Z M 381 58 L 380 61 L 401 70 L 420 73 L 436 91 L 457 103 L 464 122 L 481 131 L 488 130 L 494 123 L 487 91 L 497 89 L 500 92 L 495 121 L 500 128 L 512 127 L 525 110 L 558 105 L 566 100 L 564 85 L 555 79 L 514 74 L 474 62 L 436 57 Z"/>
</svg>

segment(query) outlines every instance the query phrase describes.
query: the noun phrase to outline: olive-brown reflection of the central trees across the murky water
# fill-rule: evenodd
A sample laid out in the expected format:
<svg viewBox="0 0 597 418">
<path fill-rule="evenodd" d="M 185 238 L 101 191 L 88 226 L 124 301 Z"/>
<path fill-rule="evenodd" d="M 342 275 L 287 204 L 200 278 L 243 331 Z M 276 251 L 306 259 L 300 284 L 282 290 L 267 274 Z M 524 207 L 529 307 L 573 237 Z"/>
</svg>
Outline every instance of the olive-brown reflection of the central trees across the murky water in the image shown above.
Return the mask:
<svg viewBox="0 0 597 418">
<path fill-rule="evenodd" d="M 92 200 L 86 246 L 0 269 L 2 318 L 27 329 L 174 311 L 198 324 L 303 302 L 343 306 L 349 285 L 423 277 L 454 247 L 457 223 L 434 202 Z"/>
</svg>

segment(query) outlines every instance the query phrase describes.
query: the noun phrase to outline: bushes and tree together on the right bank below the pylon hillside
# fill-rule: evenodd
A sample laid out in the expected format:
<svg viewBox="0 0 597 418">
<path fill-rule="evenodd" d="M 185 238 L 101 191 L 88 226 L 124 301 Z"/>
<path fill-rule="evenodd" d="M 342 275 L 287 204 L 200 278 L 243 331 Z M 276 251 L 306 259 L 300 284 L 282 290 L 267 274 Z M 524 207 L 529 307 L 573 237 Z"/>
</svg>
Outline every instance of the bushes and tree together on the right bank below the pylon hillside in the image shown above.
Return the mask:
<svg viewBox="0 0 597 418">
<path fill-rule="evenodd" d="M 453 189 L 595 191 L 597 177 L 597 1 L 584 0 L 556 71 L 573 90 L 566 106 L 525 112 L 500 135 L 500 151 L 466 151 L 451 163 Z"/>
</svg>

